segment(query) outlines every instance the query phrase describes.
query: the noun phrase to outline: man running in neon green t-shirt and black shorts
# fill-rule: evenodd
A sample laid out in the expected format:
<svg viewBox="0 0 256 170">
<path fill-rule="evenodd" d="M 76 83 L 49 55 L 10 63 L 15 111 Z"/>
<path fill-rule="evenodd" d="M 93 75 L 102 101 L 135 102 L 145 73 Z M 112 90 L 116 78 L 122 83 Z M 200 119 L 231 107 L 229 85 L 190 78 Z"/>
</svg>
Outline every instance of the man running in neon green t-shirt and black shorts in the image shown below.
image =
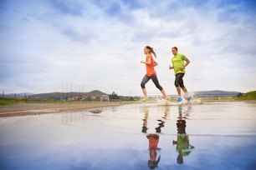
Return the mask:
<svg viewBox="0 0 256 170">
<path fill-rule="evenodd" d="M 184 86 L 183 83 L 183 77 L 185 75 L 185 67 L 187 67 L 187 65 L 190 63 L 189 59 L 181 54 L 177 52 L 178 49 L 177 47 L 172 47 L 172 53 L 173 53 L 173 57 L 172 57 L 172 66 L 170 66 L 170 69 L 174 69 L 174 73 L 175 73 L 175 86 L 177 88 L 177 102 L 182 102 L 182 90 L 183 92 L 185 92 L 185 97 L 187 98 L 187 101 L 189 102 L 191 99 L 191 96 L 188 94 L 187 92 L 187 88 Z M 184 64 L 184 61 L 186 61 L 186 63 Z M 181 90 L 182 89 L 182 90 Z"/>
</svg>

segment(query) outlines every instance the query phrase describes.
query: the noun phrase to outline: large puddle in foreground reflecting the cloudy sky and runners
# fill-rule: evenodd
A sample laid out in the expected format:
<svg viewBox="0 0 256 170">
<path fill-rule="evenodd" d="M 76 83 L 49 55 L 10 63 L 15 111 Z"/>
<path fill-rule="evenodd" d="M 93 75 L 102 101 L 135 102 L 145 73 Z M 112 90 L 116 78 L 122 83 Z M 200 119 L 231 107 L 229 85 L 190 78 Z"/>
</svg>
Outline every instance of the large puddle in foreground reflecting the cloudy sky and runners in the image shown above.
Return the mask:
<svg viewBox="0 0 256 170">
<path fill-rule="evenodd" d="M 100 111 L 1 118 L 0 169 L 256 168 L 255 103 Z"/>
</svg>

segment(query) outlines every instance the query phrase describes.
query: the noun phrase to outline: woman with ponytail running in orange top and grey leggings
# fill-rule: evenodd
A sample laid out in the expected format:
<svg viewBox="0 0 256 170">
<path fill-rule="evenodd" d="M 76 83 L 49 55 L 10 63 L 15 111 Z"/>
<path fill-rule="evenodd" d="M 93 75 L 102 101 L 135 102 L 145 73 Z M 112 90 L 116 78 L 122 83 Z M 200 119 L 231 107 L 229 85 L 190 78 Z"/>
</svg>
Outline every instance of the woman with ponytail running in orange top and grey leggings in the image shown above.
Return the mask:
<svg viewBox="0 0 256 170">
<path fill-rule="evenodd" d="M 154 67 L 157 66 L 158 63 L 156 61 L 154 61 L 154 58 L 151 55 L 151 53 L 153 53 L 154 56 L 156 57 L 156 52 L 154 52 L 153 47 L 146 46 L 144 48 L 144 53 L 146 54 L 146 61 L 141 61 L 141 63 L 146 64 L 146 75 L 143 77 L 143 79 L 141 81 L 141 88 L 142 88 L 142 92 L 144 94 L 144 98 L 142 101 L 143 102 L 147 101 L 145 85 L 146 85 L 146 82 L 148 82 L 150 79 L 154 82 L 156 87 L 161 91 L 161 94 L 167 101 L 166 92 L 161 87 L 161 85 L 159 84 L 158 79 L 156 77 L 156 71 L 155 71 Z"/>
</svg>

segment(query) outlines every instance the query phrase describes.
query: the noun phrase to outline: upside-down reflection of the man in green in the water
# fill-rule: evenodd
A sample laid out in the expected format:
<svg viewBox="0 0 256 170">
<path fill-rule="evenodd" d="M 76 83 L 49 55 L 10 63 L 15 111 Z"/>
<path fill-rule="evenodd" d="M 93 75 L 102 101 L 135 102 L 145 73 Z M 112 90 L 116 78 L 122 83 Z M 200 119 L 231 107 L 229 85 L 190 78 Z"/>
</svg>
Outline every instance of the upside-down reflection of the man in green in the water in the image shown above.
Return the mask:
<svg viewBox="0 0 256 170">
<path fill-rule="evenodd" d="M 183 163 L 183 157 L 188 156 L 194 148 L 189 143 L 189 136 L 186 133 L 186 120 L 182 117 L 182 106 L 179 107 L 179 117 L 177 119 L 177 141 L 173 140 L 173 145 L 177 145 L 177 163 Z"/>
</svg>

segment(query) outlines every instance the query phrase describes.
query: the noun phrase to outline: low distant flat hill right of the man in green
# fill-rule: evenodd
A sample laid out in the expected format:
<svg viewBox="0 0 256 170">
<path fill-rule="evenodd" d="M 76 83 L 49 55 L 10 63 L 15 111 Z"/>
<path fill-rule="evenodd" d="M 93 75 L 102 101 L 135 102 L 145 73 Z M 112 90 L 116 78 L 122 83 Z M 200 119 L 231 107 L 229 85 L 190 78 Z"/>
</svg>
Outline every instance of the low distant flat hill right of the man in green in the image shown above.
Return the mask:
<svg viewBox="0 0 256 170">
<path fill-rule="evenodd" d="M 197 97 L 233 97 L 233 96 L 238 96 L 239 94 L 243 94 L 243 93 L 220 91 L 220 90 L 194 92 L 194 95 Z"/>
</svg>

